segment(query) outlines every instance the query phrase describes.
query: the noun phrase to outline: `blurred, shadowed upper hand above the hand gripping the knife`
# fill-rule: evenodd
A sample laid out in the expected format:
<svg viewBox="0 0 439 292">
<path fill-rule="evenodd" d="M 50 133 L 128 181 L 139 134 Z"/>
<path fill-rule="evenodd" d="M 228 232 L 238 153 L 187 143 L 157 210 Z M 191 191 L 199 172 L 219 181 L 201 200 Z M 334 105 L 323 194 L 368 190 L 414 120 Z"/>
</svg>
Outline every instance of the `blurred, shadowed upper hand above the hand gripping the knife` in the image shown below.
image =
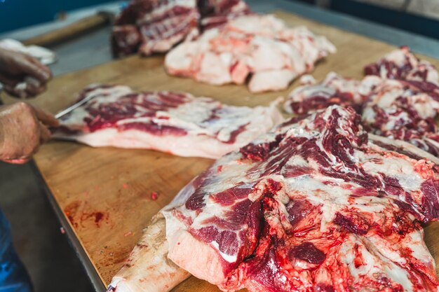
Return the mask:
<svg viewBox="0 0 439 292">
<path fill-rule="evenodd" d="M 46 90 L 50 69 L 30 55 L 0 48 L 0 83 L 14 97 L 28 98 Z"/>
</svg>

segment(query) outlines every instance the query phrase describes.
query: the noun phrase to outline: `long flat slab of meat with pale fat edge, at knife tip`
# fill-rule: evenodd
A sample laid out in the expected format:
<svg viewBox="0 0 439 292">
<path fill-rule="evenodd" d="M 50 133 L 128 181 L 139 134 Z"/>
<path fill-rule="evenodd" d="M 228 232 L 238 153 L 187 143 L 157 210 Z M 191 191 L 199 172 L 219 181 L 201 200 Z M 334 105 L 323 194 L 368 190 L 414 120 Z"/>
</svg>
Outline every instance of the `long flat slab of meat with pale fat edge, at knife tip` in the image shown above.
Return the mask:
<svg viewBox="0 0 439 292">
<path fill-rule="evenodd" d="M 219 158 L 283 121 L 278 102 L 252 109 L 187 93 L 137 93 L 122 85 L 90 85 L 81 98 L 90 95 L 95 97 L 60 120 L 55 138 Z"/>
</svg>

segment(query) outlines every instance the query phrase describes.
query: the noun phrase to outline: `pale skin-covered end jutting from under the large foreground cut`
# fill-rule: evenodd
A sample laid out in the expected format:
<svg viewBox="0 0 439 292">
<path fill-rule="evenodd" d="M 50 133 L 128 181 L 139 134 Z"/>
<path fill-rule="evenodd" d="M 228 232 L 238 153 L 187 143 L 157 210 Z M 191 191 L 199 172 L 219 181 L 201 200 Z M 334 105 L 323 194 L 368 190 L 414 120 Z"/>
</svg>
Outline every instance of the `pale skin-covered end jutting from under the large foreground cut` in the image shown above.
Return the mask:
<svg viewBox="0 0 439 292">
<path fill-rule="evenodd" d="M 108 291 L 167 292 L 189 276 L 189 272 L 168 260 L 166 221 L 159 213 L 144 229 L 142 239 L 113 277 Z"/>
</svg>

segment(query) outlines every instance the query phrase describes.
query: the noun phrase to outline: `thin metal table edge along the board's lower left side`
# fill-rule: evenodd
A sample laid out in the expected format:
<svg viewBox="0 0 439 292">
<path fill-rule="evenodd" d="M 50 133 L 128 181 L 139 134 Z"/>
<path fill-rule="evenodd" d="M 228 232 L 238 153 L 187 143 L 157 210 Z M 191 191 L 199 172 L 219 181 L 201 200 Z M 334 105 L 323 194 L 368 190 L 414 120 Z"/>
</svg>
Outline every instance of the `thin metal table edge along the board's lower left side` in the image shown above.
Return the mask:
<svg viewBox="0 0 439 292">
<path fill-rule="evenodd" d="M 69 242 L 70 246 L 72 246 L 72 248 L 74 249 L 76 256 L 78 256 L 79 260 L 81 261 L 81 264 L 84 267 L 84 270 L 86 270 L 86 274 L 90 279 L 93 288 L 95 289 L 96 292 L 107 291 L 107 287 L 102 282 L 100 275 L 97 273 L 95 266 L 91 262 L 86 251 L 83 249 L 83 246 L 81 242 L 79 242 L 78 237 L 76 237 L 76 234 L 74 233 L 72 226 L 67 220 L 64 211 L 60 209 L 60 205 L 55 200 L 55 196 L 50 191 L 50 188 L 48 187 L 46 181 L 43 179 L 43 176 L 41 175 L 41 172 L 39 171 L 36 162 L 32 160 L 32 162 L 30 162 L 29 165 L 32 169 L 32 172 L 34 172 L 35 174 L 35 178 L 37 182 L 41 186 L 43 192 L 46 194 L 46 197 L 48 198 L 50 205 L 53 208 L 53 211 L 55 211 L 55 215 L 58 217 L 58 220 L 60 221 L 62 228 L 64 228 L 65 230 L 65 234 L 67 235 L 67 241 Z"/>
</svg>

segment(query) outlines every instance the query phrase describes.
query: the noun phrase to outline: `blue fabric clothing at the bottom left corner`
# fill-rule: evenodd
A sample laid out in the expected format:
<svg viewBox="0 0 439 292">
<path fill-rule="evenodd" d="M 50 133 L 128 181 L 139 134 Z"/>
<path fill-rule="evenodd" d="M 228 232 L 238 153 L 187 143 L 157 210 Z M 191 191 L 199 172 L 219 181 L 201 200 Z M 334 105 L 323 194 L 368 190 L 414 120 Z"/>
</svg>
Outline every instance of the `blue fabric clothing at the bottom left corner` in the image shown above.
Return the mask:
<svg viewBox="0 0 439 292">
<path fill-rule="evenodd" d="M 11 226 L 1 210 L 0 292 L 32 292 L 29 275 L 12 245 Z"/>
</svg>

